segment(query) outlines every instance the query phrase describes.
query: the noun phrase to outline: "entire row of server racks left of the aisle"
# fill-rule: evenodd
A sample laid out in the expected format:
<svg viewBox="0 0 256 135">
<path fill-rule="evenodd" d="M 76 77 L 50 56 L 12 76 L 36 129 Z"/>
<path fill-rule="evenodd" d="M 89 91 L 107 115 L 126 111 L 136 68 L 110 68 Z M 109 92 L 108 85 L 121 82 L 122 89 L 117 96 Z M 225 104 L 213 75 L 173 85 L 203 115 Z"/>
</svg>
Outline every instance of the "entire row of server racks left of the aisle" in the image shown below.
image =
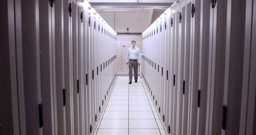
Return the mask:
<svg viewBox="0 0 256 135">
<path fill-rule="evenodd" d="M 116 32 L 79 0 L 1 1 L 0 135 L 89 135 L 116 79 Z"/>
</svg>

